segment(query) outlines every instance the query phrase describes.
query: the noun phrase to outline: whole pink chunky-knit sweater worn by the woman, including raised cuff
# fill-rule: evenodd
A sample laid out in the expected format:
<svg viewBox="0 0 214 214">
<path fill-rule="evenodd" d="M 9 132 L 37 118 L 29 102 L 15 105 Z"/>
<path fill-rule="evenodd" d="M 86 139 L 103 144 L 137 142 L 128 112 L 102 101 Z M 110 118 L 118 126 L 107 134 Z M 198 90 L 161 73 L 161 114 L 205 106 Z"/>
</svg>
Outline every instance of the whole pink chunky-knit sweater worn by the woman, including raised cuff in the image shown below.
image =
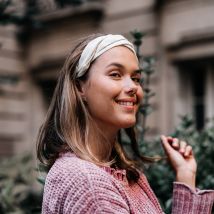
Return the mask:
<svg viewBox="0 0 214 214">
<path fill-rule="evenodd" d="M 173 214 L 208 214 L 213 190 L 191 190 L 174 182 Z M 129 185 L 125 170 L 99 167 L 72 153 L 56 160 L 45 182 L 43 214 L 160 214 L 161 206 L 144 174 Z"/>
</svg>

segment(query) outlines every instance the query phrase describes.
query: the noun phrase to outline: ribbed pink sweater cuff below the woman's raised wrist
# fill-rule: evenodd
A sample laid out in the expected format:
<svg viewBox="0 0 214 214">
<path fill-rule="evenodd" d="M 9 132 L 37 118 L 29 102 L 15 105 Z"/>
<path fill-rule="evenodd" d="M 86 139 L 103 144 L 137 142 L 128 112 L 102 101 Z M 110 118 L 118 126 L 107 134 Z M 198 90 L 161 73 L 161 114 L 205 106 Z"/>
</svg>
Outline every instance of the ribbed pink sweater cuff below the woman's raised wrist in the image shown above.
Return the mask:
<svg viewBox="0 0 214 214">
<path fill-rule="evenodd" d="M 173 185 L 172 214 L 211 214 L 214 190 L 193 191 L 180 182 Z"/>
</svg>

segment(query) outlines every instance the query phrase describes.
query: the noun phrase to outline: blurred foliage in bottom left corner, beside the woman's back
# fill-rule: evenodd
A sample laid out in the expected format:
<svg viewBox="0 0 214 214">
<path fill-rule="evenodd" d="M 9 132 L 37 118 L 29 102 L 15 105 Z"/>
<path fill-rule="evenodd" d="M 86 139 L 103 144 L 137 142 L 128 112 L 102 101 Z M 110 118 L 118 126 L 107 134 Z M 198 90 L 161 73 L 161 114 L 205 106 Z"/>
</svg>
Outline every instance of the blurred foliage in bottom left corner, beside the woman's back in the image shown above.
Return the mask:
<svg viewBox="0 0 214 214">
<path fill-rule="evenodd" d="M 31 155 L 0 162 L 0 213 L 41 213 L 42 190 L 36 189 Z"/>
</svg>

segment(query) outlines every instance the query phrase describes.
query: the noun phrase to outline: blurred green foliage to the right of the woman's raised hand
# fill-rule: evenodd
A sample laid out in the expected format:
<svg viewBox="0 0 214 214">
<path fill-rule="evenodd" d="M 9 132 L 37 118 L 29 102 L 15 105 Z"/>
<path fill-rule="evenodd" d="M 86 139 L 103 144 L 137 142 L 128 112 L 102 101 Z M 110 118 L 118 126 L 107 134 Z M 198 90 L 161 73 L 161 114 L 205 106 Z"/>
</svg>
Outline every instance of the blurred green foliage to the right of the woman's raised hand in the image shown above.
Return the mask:
<svg viewBox="0 0 214 214">
<path fill-rule="evenodd" d="M 188 116 L 182 117 L 182 123 L 174 133 L 175 137 L 186 140 L 193 146 L 198 162 L 198 187 L 209 189 L 214 187 L 214 120 L 207 123 L 202 131 L 197 131 L 194 120 Z"/>
</svg>

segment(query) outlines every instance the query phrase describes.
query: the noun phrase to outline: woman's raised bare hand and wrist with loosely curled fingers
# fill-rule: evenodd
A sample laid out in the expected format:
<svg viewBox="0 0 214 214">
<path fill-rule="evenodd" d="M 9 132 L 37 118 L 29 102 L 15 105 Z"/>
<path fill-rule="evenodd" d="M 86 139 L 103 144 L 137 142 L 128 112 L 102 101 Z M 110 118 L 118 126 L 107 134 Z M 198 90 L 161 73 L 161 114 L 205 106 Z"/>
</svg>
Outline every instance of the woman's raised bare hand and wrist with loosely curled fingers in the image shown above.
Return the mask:
<svg viewBox="0 0 214 214">
<path fill-rule="evenodd" d="M 176 172 L 176 181 L 185 183 L 195 189 L 197 164 L 192 147 L 177 138 L 161 136 L 165 153 Z"/>
</svg>

